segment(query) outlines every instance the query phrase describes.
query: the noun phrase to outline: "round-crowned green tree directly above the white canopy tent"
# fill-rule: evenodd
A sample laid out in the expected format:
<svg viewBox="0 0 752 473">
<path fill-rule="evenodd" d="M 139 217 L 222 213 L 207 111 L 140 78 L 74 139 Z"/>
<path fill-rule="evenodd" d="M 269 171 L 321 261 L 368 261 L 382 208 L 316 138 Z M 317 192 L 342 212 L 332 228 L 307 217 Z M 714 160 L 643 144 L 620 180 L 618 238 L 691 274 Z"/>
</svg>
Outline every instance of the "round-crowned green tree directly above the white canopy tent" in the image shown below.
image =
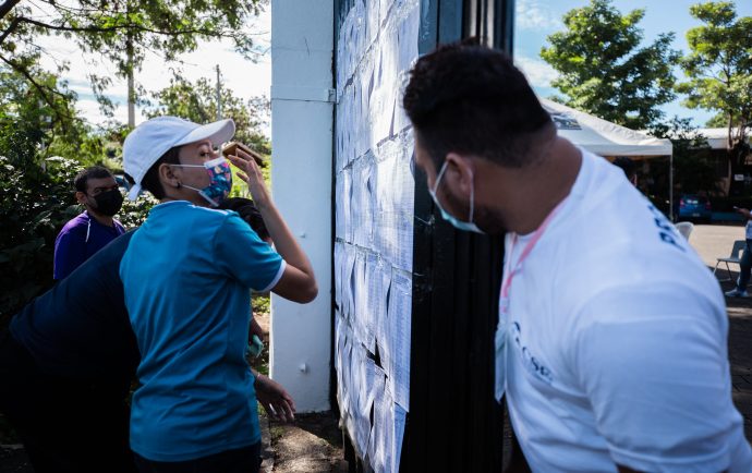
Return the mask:
<svg viewBox="0 0 752 473">
<path fill-rule="evenodd" d="M 622 15 L 609 0 L 567 12 L 566 31 L 548 36 L 541 57 L 560 74 L 553 85 L 570 107 L 631 129 L 644 129 L 663 116 L 658 107 L 675 97 L 672 66 L 679 59 L 670 48 L 672 33 L 640 47 L 638 23 L 644 10 Z"/>
</svg>

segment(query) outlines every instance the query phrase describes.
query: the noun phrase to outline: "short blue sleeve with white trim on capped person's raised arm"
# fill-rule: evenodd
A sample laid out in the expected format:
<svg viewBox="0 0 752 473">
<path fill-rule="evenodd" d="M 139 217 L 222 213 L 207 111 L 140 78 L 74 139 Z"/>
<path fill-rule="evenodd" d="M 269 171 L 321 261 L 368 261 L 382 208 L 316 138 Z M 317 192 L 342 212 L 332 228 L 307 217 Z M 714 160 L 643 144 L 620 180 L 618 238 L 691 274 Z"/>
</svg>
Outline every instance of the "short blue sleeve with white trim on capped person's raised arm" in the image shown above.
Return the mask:
<svg viewBox="0 0 752 473">
<path fill-rule="evenodd" d="M 284 269 L 282 257 L 235 213 L 219 228 L 215 254 L 226 274 L 256 291 L 271 289 Z"/>
</svg>

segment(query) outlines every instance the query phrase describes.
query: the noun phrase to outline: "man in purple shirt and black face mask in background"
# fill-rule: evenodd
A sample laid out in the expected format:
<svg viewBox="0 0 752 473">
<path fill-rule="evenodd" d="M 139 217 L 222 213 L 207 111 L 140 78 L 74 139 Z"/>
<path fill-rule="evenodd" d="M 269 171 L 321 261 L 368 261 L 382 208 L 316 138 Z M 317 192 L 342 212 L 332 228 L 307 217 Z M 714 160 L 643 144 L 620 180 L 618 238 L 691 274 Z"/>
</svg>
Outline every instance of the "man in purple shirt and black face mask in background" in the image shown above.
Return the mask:
<svg viewBox="0 0 752 473">
<path fill-rule="evenodd" d="M 125 233 L 112 218 L 123 204 L 123 196 L 112 173 L 101 166 L 84 169 L 73 181 L 75 197 L 85 210 L 71 219 L 54 240 L 53 278 L 73 272 L 93 254 Z"/>
</svg>

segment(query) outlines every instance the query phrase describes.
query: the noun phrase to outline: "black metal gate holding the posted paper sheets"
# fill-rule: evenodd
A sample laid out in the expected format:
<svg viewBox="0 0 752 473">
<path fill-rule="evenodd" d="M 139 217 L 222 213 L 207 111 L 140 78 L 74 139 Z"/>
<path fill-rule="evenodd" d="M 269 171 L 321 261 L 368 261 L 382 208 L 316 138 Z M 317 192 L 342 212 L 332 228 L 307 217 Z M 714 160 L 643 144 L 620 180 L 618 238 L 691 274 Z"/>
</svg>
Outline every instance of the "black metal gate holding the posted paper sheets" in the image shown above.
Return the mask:
<svg viewBox="0 0 752 473">
<path fill-rule="evenodd" d="M 335 32 L 352 4 L 337 0 Z M 513 0 L 424 0 L 421 8 L 421 53 L 476 36 L 511 54 Z M 410 412 L 400 470 L 501 471 L 494 335 L 502 239 L 456 231 L 434 208 L 425 177 L 416 173 L 413 241 Z M 357 460 L 351 469 L 368 470 Z"/>
</svg>

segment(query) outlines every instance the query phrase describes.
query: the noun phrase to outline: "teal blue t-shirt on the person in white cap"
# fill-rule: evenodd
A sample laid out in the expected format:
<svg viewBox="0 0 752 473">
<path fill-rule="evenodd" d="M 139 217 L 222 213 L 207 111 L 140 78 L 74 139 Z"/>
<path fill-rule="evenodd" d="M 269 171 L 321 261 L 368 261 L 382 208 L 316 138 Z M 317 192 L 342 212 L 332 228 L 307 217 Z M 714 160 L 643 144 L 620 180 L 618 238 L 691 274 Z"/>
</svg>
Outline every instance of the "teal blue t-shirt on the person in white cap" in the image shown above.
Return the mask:
<svg viewBox="0 0 752 473">
<path fill-rule="evenodd" d="M 245 361 L 250 291 L 274 287 L 282 258 L 235 214 L 160 204 L 120 264 L 142 361 L 131 448 L 185 461 L 260 439 Z"/>
</svg>

